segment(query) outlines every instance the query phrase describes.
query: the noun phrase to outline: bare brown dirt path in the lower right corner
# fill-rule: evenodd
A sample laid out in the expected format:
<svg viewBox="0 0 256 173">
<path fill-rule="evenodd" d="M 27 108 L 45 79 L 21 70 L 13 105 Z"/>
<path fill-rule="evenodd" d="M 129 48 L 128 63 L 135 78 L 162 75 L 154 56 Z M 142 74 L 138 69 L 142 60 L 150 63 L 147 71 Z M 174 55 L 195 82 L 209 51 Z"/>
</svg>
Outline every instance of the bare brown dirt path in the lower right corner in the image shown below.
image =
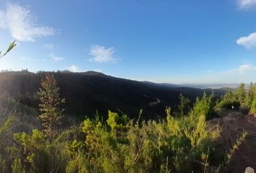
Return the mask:
<svg viewBox="0 0 256 173">
<path fill-rule="evenodd" d="M 231 143 L 235 142 L 243 131 L 248 133 L 245 141 L 231 158 L 229 172 L 244 172 L 246 167 L 256 170 L 256 117 L 242 115 L 241 112 L 229 112 L 227 116 L 213 121 L 223 125 L 221 138 L 218 141 L 222 151 L 224 148 L 228 151 Z"/>
</svg>

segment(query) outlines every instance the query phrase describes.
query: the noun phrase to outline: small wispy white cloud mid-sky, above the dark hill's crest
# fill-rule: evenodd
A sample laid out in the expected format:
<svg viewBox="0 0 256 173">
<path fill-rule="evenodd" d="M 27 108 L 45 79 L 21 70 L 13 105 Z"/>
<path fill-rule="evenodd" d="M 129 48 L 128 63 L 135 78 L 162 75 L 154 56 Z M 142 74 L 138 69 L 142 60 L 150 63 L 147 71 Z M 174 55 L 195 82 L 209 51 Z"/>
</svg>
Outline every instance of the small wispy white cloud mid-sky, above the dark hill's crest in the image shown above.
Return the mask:
<svg viewBox="0 0 256 173">
<path fill-rule="evenodd" d="M 117 59 L 114 58 L 114 53 L 115 49 L 113 47 L 105 48 L 101 45 L 93 45 L 90 48 L 90 55 L 93 56 L 93 58 L 90 58 L 90 61 L 97 63 L 116 63 Z"/>
</svg>

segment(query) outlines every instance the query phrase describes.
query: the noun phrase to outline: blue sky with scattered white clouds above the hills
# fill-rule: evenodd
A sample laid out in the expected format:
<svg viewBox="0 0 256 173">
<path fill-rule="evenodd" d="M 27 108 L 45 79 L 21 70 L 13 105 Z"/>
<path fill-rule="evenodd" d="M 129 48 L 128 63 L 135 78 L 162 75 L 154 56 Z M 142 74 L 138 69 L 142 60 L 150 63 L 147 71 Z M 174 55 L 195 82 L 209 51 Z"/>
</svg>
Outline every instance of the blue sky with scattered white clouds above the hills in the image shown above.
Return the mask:
<svg viewBox="0 0 256 173">
<path fill-rule="evenodd" d="M 0 70 L 255 82 L 256 0 L 0 1 Z"/>
</svg>

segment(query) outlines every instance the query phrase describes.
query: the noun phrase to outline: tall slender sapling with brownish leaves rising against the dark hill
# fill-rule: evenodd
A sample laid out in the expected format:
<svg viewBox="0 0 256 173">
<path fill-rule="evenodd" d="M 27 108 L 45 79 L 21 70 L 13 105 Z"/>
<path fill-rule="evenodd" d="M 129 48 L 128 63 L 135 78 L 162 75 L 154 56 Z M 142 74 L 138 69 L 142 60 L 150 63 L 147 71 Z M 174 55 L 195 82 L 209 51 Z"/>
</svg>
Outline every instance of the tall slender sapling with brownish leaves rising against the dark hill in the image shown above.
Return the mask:
<svg viewBox="0 0 256 173">
<path fill-rule="evenodd" d="M 46 74 L 46 77 L 41 81 L 39 115 L 43 125 L 43 132 L 50 138 L 58 133 L 57 127 L 61 124 L 63 111 L 58 106 L 65 102 L 65 99 L 59 98 L 59 87 L 57 87 L 56 79 L 51 74 Z"/>
</svg>

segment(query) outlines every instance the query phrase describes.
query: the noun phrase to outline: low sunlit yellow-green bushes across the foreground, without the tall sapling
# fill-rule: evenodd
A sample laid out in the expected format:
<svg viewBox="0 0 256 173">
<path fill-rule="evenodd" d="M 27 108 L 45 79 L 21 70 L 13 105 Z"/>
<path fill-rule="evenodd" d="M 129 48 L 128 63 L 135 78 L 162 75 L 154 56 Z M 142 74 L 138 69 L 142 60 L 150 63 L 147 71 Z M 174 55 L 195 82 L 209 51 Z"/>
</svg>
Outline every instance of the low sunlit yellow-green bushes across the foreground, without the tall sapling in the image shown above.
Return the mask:
<svg viewBox="0 0 256 173">
<path fill-rule="evenodd" d="M 107 122 L 86 119 L 54 138 L 41 130 L 14 133 L 0 157 L 3 172 L 204 172 L 210 169 L 219 128 L 205 115 L 161 122 L 129 120 L 109 112 Z M 2 154 L 2 152 L 1 152 Z M 3 164 L 4 165 L 4 164 Z M 205 168 L 205 165 L 208 167 Z M 211 165 L 213 166 L 213 165 Z"/>
</svg>

